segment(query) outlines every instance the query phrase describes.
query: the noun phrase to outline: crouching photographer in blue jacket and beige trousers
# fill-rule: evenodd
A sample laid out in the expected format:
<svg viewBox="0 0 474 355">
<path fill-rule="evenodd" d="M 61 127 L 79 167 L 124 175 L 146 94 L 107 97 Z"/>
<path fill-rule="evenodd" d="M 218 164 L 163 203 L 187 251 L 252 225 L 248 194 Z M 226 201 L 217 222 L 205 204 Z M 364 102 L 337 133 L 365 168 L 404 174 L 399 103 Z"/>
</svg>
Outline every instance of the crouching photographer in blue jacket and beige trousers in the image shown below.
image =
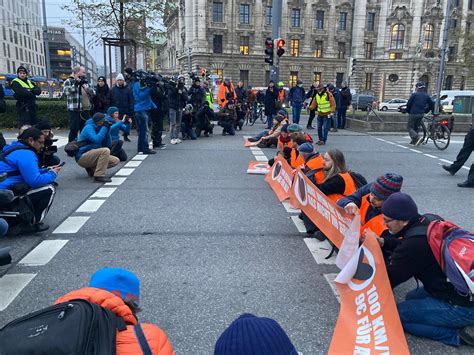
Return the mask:
<svg viewBox="0 0 474 355">
<path fill-rule="evenodd" d="M 81 132 L 79 142 L 87 142 L 81 146 L 76 154 L 76 162 L 86 169 L 95 182 L 111 182 L 105 176 L 107 169 L 117 165 L 120 160 L 110 154 L 112 137 L 109 126 L 103 113 L 97 112 L 90 118 Z"/>
</svg>

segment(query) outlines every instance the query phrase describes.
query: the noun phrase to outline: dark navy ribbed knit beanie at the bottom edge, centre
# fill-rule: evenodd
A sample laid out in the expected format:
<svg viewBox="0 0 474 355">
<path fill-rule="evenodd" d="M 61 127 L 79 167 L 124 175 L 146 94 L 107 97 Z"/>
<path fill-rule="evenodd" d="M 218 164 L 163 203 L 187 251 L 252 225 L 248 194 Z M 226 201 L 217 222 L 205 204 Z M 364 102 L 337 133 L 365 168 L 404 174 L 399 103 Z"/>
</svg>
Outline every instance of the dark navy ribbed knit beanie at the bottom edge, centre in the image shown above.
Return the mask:
<svg viewBox="0 0 474 355">
<path fill-rule="evenodd" d="M 214 355 L 297 355 L 283 328 L 273 319 L 242 314 L 217 339 Z"/>
</svg>

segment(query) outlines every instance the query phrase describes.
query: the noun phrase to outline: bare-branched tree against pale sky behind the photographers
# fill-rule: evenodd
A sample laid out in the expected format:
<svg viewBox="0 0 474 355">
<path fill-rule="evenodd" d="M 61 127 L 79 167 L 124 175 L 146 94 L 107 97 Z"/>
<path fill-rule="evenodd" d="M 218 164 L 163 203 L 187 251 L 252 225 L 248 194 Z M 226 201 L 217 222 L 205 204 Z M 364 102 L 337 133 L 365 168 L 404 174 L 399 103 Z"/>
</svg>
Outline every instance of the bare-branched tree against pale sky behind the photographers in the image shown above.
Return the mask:
<svg viewBox="0 0 474 355">
<path fill-rule="evenodd" d="M 103 37 L 133 39 L 137 46 L 151 47 L 151 39 L 163 33 L 165 0 L 72 0 L 62 9 L 76 15 L 65 20 L 74 28 L 84 21 L 85 30 L 92 37 L 89 45 L 102 43 Z M 120 46 L 121 69 L 125 66 L 125 49 Z"/>
</svg>

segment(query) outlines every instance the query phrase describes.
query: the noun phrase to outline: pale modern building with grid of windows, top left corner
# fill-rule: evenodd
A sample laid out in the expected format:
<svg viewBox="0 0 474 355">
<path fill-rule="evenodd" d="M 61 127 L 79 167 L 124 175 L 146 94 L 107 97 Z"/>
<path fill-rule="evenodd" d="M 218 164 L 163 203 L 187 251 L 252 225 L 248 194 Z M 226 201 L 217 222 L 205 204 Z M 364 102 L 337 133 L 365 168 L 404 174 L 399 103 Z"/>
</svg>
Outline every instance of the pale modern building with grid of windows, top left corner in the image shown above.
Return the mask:
<svg viewBox="0 0 474 355">
<path fill-rule="evenodd" d="M 45 76 L 40 0 L 0 1 L 0 72 L 16 74 L 23 65 L 30 76 Z"/>
</svg>

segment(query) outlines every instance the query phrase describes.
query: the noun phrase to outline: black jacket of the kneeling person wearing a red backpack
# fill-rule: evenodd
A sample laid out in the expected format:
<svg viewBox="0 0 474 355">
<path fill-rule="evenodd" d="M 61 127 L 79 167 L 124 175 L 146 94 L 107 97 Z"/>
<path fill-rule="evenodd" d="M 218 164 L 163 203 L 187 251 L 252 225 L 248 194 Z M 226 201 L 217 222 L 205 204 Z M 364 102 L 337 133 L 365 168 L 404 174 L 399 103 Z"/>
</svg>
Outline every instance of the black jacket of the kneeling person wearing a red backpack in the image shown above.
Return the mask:
<svg viewBox="0 0 474 355">
<path fill-rule="evenodd" d="M 446 275 L 431 251 L 426 234 L 403 238 L 403 235 L 411 228 L 428 224 L 428 219 L 419 216 L 400 233 L 392 236 L 402 238 L 387 265 L 392 288 L 414 277 L 423 283 L 426 292 L 434 298 L 453 305 L 474 307 L 474 301 L 469 301 L 468 297 L 459 295 L 454 286 L 447 281 Z"/>
</svg>

